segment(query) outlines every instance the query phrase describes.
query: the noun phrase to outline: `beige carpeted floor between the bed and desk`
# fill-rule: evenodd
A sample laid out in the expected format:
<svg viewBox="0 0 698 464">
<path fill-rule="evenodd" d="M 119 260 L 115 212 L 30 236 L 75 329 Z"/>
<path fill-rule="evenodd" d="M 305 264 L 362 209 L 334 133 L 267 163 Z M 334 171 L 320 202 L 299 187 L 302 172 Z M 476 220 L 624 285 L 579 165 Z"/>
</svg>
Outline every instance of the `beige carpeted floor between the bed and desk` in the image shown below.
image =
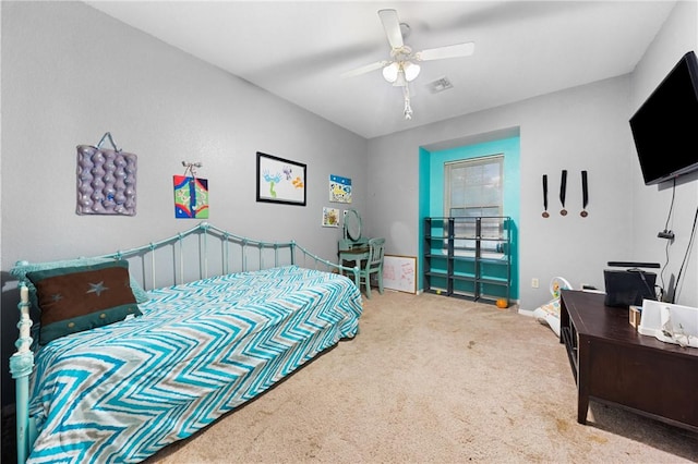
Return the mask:
<svg viewBox="0 0 698 464">
<path fill-rule="evenodd" d="M 577 424 L 564 346 L 516 308 L 372 296 L 356 339 L 147 463 L 698 461 L 698 434 L 618 407 Z"/>
</svg>

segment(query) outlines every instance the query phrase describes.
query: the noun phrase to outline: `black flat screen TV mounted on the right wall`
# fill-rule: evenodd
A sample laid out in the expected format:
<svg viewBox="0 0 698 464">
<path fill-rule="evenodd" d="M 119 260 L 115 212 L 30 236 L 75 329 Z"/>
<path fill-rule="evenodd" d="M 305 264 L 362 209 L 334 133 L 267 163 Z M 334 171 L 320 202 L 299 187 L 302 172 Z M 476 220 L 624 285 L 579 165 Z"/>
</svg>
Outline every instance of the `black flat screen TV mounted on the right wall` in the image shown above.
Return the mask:
<svg viewBox="0 0 698 464">
<path fill-rule="evenodd" d="M 698 170 L 698 61 L 689 51 L 630 118 L 645 184 Z"/>
</svg>

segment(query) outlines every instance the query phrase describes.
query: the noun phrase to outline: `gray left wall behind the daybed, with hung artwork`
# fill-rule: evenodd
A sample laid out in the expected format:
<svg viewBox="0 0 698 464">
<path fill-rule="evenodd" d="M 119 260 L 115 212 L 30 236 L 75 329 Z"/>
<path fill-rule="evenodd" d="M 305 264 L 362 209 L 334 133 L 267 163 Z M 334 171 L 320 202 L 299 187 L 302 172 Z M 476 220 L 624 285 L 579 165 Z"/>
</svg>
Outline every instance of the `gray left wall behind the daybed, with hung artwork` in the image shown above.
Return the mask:
<svg viewBox="0 0 698 464">
<path fill-rule="evenodd" d="M 366 142 L 250 83 L 76 2 L 2 2 L 2 403 L 16 338 L 19 259 L 116 252 L 173 235 L 172 175 L 202 161 L 208 221 L 294 239 L 336 259 L 341 229 L 322 228 L 329 174 L 365 205 Z M 135 217 L 76 216 L 75 146 L 105 132 L 139 156 Z M 256 151 L 308 164 L 308 206 L 256 203 Z M 339 205 L 341 206 L 341 205 Z"/>
</svg>

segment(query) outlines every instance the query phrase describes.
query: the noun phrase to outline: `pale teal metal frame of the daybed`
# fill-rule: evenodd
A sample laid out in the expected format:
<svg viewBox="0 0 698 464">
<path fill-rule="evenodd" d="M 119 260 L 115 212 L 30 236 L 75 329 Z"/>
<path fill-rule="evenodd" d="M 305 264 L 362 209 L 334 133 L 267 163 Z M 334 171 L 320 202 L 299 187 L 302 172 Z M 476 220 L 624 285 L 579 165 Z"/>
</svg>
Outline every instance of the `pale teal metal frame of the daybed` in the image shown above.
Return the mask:
<svg viewBox="0 0 698 464">
<path fill-rule="evenodd" d="M 190 242 L 194 241 L 194 245 Z M 220 255 L 212 255 L 214 246 L 220 247 Z M 169 251 L 170 253 L 156 253 Z M 255 253 L 256 252 L 256 253 Z M 300 257 L 298 256 L 300 255 Z M 348 273 L 359 286 L 359 267 L 346 267 L 311 253 L 294 241 L 264 242 L 219 229 L 208 222 L 200 224 L 159 242 L 151 242 L 136 248 L 119 251 L 95 258 L 129 260 L 132 278 L 143 289 L 156 289 L 176 285 L 207 277 L 231 272 L 262 270 L 270 267 L 297 265 L 303 268 L 325 270 L 327 272 Z M 299 259 L 300 258 L 300 259 Z M 185 267 L 192 260 L 196 266 Z M 163 265 L 163 261 L 166 264 Z M 265 262 L 270 261 L 269 266 Z M 17 266 L 27 265 L 17 261 Z M 310 264 L 310 265 L 309 265 Z M 136 265 L 136 266 L 134 266 Z M 157 272 L 158 267 L 171 269 L 168 278 Z M 213 268 L 213 269 L 212 269 Z M 31 447 L 37 437 L 34 419 L 29 418 L 29 376 L 34 369 L 32 338 L 33 321 L 29 315 L 29 291 L 26 282 L 20 284 L 20 335 L 15 342 L 16 352 L 10 357 L 10 373 L 16 386 L 16 440 L 17 463 L 26 462 Z"/>
</svg>

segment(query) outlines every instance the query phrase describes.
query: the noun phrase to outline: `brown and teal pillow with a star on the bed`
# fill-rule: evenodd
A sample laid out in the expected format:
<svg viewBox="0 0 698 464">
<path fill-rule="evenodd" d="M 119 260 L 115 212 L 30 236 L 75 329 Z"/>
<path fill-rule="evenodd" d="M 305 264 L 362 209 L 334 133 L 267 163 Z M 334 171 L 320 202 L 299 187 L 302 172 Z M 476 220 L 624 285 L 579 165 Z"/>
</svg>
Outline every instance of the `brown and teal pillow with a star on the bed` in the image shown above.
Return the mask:
<svg viewBox="0 0 698 464">
<path fill-rule="evenodd" d="M 41 312 L 39 344 L 140 316 L 129 261 L 28 272 Z"/>
</svg>

